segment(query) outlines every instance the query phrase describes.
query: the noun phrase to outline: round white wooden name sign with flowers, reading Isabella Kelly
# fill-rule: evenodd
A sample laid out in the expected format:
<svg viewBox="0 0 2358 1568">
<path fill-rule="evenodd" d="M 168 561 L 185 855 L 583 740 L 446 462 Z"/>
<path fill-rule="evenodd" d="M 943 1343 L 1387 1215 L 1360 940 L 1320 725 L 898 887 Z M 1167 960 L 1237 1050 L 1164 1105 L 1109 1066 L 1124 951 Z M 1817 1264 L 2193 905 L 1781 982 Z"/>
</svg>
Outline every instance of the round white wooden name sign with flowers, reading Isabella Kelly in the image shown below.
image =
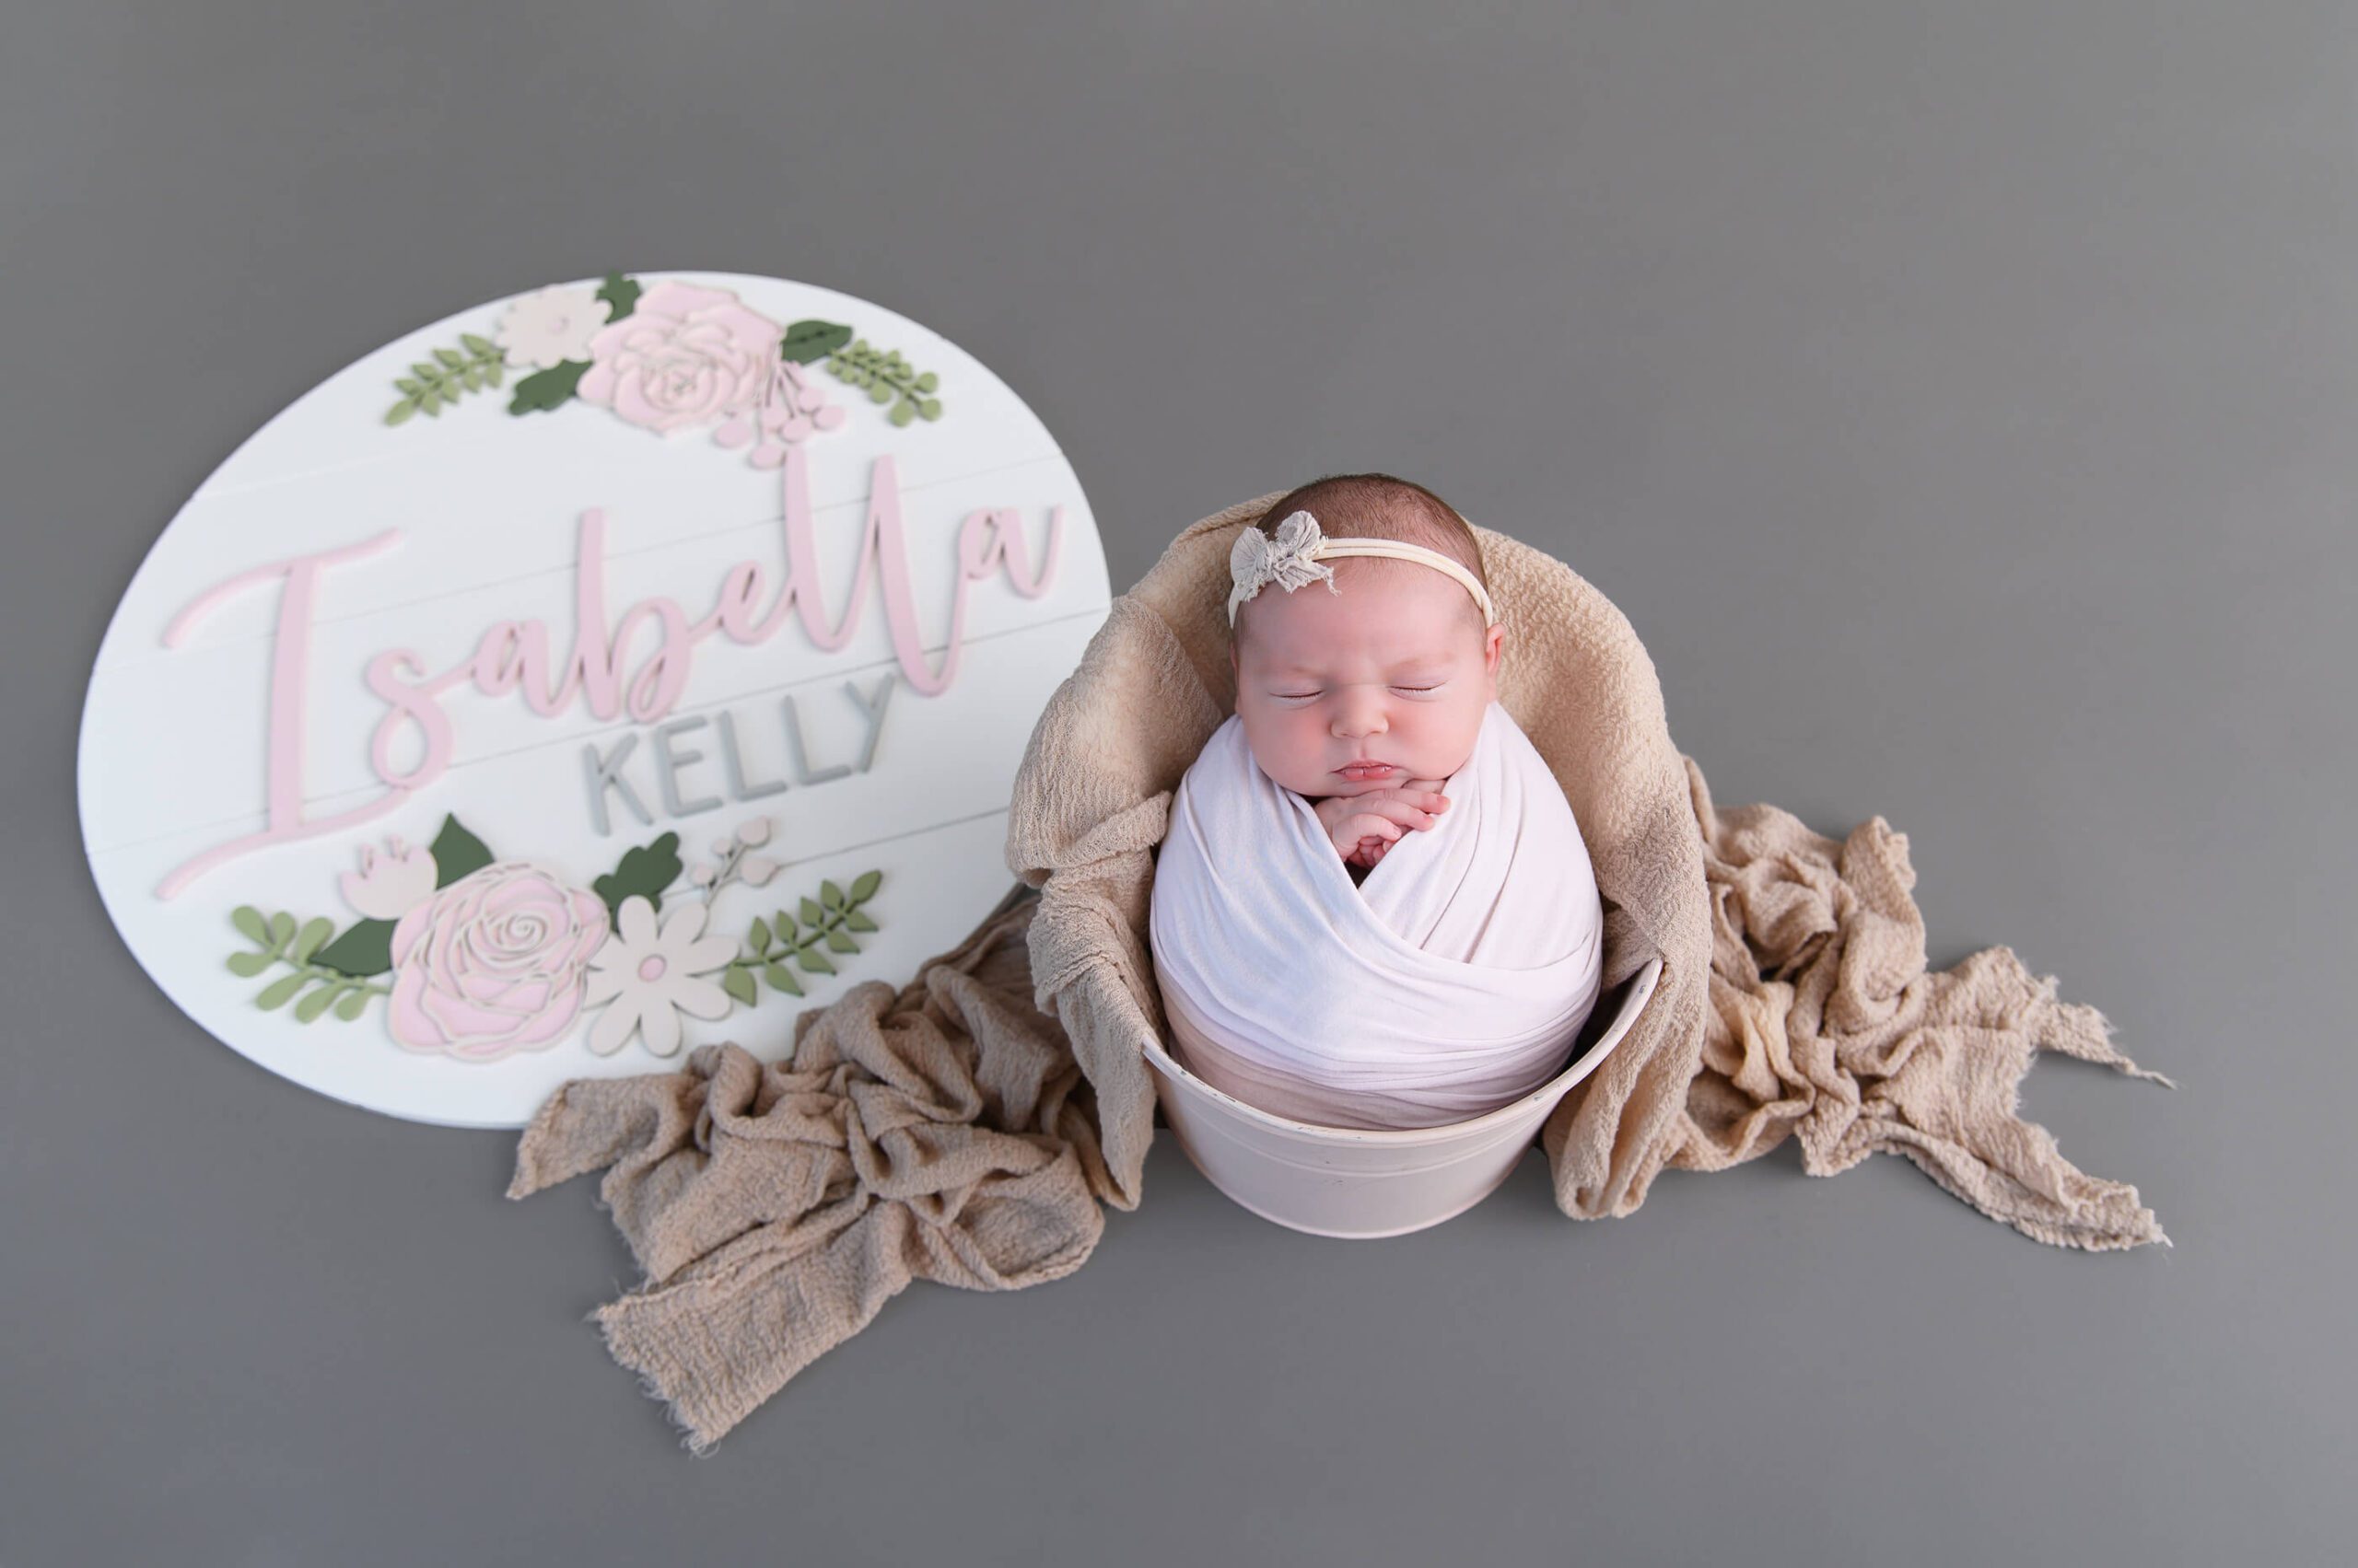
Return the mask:
<svg viewBox="0 0 2358 1568">
<path fill-rule="evenodd" d="M 962 938 L 1108 604 L 1073 467 L 936 332 L 783 278 L 542 288 L 182 507 L 90 677 L 83 842 L 226 1045 L 519 1127 L 700 1042 L 780 1059 Z"/>
</svg>

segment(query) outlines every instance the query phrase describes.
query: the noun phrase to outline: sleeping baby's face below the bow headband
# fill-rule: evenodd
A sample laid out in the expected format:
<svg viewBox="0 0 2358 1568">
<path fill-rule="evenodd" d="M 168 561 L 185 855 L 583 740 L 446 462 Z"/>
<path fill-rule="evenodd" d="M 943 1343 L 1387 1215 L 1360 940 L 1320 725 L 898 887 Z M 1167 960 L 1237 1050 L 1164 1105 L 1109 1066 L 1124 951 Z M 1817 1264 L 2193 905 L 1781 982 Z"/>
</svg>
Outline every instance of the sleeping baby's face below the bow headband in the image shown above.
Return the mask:
<svg viewBox="0 0 2358 1568">
<path fill-rule="evenodd" d="M 1448 778 L 1497 698 L 1504 627 L 1481 630 L 1464 587 L 1438 571 L 1370 566 L 1335 561 L 1339 592 L 1264 587 L 1229 644 L 1252 759 L 1311 799 Z"/>
</svg>

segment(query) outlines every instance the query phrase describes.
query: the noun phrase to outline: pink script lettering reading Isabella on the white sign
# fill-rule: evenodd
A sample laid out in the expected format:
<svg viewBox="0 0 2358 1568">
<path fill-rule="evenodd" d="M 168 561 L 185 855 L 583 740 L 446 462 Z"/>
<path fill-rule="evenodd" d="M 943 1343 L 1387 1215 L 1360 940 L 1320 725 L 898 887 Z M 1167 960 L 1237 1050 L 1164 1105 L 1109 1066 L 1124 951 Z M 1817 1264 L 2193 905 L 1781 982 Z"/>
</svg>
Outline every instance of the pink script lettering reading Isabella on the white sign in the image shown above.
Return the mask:
<svg viewBox="0 0 2358 1568">
<path fill-rule="evenodd" d="M 861 613 L 875 580 L 884 599 L 884 622 L 891 634 L 894 658 L 903 677 L 917 691 L 936 696 L 957 677 L 969 585 L 1005 575 L 1007 587 L 1016 594 L 1038 599 L 1054 582 L 1056 554 L 1063 540 L 1063 507 L 1049 507 L 1047 545 L 1040 552 L 1038 571 L 1030 564 L 1014 507 L 981 507 L 969 512 L 957 523 L 957 578 L 950 592 L 948 641 L 941 653 L 941 667 L 929 670 L 924 663 L 924 641 L 917 630 L 915 597 L 910 592 L 908 531 L 901 521 L 901 481 L 894 460 L 889 455 L 877 457 L 870 472 L 868 521 L 861 535 L 858 568 L 842 620 L 835 625 L 828 625 L 828 611 L 816 587 L 818 559 L 809 474 L 799 446 L 788 448 L 778 476 L 785 502 L 780 523 L 785 531 L 785 580 L 778 585 L 776 599 L 766 606 L 762 564 L 738 561 L 722 578 L 719 594 L 700 620 L 689 620 L 686 611 L 672 599 L 639 599 L 623 611 L 620 620 L 608 625 L 606 514 L 592 507 L 580 516 L 580 549 L 573 568 L 573 651 L 566 655 L 561 670 L 552 672 L 549 627 L 540 620 L 493 622 L 476 641 L 474 653 L 439 674 L 429 674 L 424 660 L 410 648 L 387 648 L 370 658 L 363 667 L 363 679 L 387 703 L 387 712 L 370 740 L 370 766 L 387 788 L 384 795 L 337 816 L 307 818 L 302 813 L 311 608 L 318 580 L 330 566 L 382 554 L 399 540 L 399 531 L 387 531 L 342 549 L 323 549 L 257 566 L 198 594 L 165 627 L 165 646 L 182 646 L 198 620 L 245 589 L 281 582 L 278 632 L 271 646 L 269 766 L 264 783 L 266 825 L 259 832 L 215 844 L 184 861 L 156 887 L 156 896 L 172 898 L 208 870 L 257 849 L 337 832 L 384 816 L 417 790 L 432 785 L 450 766 L 450 717 L 443 712 L 441 698 L 453 686 L 472 684 L 490 698 L 519 693 L 526 707 L 540 717 L 559 714 L 578 700 L 599 719 L 630 714 L 634 722 L 648 724 L 679 703 L 689 684 L 696 644 L 714 632 L 726 634 L 736 644 L 759 644 L 776 637 L 788 618 L 795 618 L 816 648 L 842 648 L 861 627 Z M 625 672 L 632 646 L 648 639 L 653 646 Z M 420 750 L 410 769 L 396 766 L 391 755 L 403 729 L 415 733 Z"/>
</svg>

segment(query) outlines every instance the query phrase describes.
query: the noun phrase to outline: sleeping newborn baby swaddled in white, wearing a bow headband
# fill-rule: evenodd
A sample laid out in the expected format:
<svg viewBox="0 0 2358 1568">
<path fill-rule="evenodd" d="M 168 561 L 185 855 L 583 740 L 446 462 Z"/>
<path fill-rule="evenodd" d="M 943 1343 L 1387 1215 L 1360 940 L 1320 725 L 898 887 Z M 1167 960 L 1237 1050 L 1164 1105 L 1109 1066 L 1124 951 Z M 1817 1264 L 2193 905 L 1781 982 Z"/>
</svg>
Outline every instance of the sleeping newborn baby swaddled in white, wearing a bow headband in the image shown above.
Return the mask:
<svg viewBox="0 0 2358 1568">
<path fill-rule="evenodd" d="M 1323 1127 L 1530 1094 L 1596 1004 L 1603 910 L 1570 802 L 1497 703 L 1474 531 L 1422 486 L 1330 476 L 1238 533 L 1229 575 L 1236 712 L 1155 856 L 1174 1056 Z"/>
</svg>

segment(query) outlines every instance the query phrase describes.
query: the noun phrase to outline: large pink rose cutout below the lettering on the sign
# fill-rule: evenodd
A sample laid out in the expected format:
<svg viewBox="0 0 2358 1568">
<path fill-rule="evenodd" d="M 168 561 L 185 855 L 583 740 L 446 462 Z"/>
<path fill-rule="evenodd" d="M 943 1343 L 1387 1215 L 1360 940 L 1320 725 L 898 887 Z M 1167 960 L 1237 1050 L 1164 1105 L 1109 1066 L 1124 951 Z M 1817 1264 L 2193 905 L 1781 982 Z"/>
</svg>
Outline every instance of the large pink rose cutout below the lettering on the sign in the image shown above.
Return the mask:
<svg viewBox="0 0 2358 1568">
<path fill-rule="evenodd" d="M 564 1035 L 606 903 L 531 861 L 493 861 L 394 927 L 387 1026 L 413 1052 L 498 1061 Z"/>
</svg>

